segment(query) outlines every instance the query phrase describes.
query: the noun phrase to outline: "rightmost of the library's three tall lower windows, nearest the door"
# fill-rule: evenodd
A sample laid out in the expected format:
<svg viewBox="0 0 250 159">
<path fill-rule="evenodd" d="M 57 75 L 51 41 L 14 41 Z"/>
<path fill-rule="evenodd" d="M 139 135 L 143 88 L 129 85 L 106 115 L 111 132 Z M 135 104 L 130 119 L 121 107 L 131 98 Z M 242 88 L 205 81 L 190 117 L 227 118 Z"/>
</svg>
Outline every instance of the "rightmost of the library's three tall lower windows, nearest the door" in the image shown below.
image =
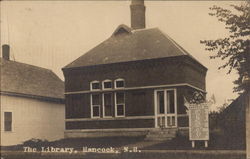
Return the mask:
<svg viewBox="0 0 250 159">
<path fill-rule="evenodd" d="M 125 93 L 117 92 L 115 93 L 115 102 L 116 102 L 116 116 L 125 116 Z"/>
</svg>

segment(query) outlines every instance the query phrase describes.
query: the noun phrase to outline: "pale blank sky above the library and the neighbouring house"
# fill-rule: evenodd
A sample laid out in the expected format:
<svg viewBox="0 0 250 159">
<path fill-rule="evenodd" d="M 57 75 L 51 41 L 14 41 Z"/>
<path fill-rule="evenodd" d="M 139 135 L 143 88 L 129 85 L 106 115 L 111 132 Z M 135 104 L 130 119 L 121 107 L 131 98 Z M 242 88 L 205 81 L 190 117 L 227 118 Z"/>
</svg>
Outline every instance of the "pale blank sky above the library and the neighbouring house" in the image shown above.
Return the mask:
<svg viewBox="0 0 250 159">
<path fill-rule="evenodd" d="M 146 28 L 158 27 L 208 68 L 207 98 L 215 95 L 216 110 L 235 99 L 235 72 L 218 70 L 200 40 L 228 35 L 223 23 L 208 15 L 209 7 L 230 8 L 239 1 L 146 1 Z M 130 26 L 130 1 L 0 1 L 1 45 L 9 44 L 11 60 L 54 71 L 109 38 L 120 24 Z"/>
</svg>

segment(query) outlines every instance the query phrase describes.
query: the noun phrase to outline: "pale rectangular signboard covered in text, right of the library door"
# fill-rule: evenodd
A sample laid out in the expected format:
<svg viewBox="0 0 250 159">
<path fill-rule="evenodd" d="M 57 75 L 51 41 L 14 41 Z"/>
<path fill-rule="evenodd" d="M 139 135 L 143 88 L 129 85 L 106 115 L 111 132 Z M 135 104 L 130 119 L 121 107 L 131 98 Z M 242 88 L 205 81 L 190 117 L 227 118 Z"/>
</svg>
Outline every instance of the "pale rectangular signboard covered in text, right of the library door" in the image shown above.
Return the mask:
<svg viewBox="0 0 250 159">
<path fill-rule="evenodd" d="M 209 140 L 208 103 L 188 104 L 189 139 Z"/>
</svg>

